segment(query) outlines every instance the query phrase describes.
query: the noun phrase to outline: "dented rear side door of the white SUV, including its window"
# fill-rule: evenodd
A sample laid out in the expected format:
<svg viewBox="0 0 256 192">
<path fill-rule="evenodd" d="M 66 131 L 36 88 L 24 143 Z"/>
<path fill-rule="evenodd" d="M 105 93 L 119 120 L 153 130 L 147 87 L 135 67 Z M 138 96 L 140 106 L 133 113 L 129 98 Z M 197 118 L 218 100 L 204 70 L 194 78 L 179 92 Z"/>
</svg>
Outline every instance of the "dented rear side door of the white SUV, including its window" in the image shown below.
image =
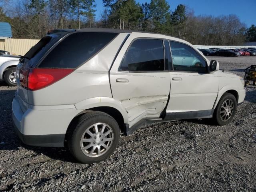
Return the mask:
<svg viewBox="0 0 256 192">
<path fill-rule="evenodd" d="M 163 38 L 132 33 L 120 50 L 110 70 L 110 84 L 113 98 L 128 114 L 130 127 L 145 118 L 159 119 L 166 107 L 170 75 L 165 62 Z"/>
</svg>

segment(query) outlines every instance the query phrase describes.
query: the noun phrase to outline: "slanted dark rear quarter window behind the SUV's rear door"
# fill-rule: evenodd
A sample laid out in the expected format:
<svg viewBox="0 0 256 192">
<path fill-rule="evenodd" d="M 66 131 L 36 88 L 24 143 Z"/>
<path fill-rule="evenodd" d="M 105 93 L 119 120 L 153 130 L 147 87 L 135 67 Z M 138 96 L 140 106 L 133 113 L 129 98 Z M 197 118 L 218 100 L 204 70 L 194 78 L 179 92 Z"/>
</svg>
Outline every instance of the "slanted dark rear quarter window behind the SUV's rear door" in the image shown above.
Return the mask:
<svg viewBox="0 0 256 192">
<path fill-rule="evenodd" d="M 39 64 L 39 68 L 77 68 L 118 33 L 78 32 L 62 40 Z"/>
</svg>

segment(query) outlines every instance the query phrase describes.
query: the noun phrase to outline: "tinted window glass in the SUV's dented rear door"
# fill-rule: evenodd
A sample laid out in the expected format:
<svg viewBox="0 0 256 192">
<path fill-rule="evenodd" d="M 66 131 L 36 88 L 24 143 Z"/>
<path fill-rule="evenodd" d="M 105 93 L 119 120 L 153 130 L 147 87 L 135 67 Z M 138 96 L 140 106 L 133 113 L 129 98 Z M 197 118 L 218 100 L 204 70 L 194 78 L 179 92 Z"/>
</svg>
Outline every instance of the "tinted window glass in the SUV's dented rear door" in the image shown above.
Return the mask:
<svg viewBox="0 0 256 192">
<path fill-rule="evenodd" d="M 164 70 L 164 46 L 160 39 L 137 39 L 124 55 L 120 70 Z"/>
</svg>

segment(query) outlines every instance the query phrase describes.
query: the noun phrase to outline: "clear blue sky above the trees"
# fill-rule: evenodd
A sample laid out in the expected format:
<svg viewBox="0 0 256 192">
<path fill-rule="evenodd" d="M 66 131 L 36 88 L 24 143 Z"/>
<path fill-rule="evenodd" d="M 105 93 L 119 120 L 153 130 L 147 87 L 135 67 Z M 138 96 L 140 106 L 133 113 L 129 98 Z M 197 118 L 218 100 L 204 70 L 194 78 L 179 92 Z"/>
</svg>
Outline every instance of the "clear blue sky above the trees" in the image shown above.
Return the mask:
<svg viewBox="0 0 256 192">
<path fill-rule="evenodd" d="M 104 6 L 102 0 L 95 0 L 97 4 L 96 19 L 101 18 Z M 140 4 L 150 2 L 150 0 L 136 0 Z M 252 24 L 256 25 L 256 0 L 167 0 L 172 11 L 178 4 L 185 4 L 194 10 L 194 14 L 198 15 L 229 15 L 236 14 L 241 22 L 247 27 Z"/>
</svg>

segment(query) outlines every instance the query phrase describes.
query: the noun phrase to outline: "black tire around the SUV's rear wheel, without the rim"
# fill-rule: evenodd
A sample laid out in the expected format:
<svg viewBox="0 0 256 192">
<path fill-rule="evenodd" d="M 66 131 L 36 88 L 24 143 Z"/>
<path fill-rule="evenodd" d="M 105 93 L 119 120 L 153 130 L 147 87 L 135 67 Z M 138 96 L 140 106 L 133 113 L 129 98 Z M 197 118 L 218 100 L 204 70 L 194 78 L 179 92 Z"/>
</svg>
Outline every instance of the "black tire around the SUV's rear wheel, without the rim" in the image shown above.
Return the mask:
<svg viewBox="0 0 256 192">
<path fill-rule="evenodd" d="M 106 150 L 104 154 L 98 157 L 89 157 L 82 151 L 81 139 L 86 129 L 98 122 L 105 123 L 112 128 L 113 141 L 109 149 Z M 116 150 L 120 140 L 120 128 L 118 123 L 114 118 L 112 118 L 112 116 L 109 116 L 104 112 L 88 112 L 83 114 L 76 120 L 71 128 L 73 131 L 70 133 L 70 137 L 68 139 L 68 148 L 79 162 L 85 164 L 92 164 L 106 160 Z"/>
</svg>

